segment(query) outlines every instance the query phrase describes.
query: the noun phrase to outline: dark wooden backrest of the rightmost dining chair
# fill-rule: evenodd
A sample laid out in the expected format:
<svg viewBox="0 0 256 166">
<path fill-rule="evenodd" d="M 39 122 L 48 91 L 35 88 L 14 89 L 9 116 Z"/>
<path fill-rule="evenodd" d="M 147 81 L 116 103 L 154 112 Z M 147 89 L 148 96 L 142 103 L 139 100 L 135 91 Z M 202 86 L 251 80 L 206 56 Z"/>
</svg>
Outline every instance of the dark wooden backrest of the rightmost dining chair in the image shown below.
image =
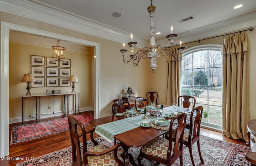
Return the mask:
<svg viewBox="0 0 256 166">
<path fill-rule="evenodd" d="M 203 114 L 203 106 L 198 106 L 196 108 L 193 108 L 191 111 L 190 126 L 189 126 L 190 129 L 189 129 L 189 138 L 188 139 L 193 140 L 192 144 L 199 139 L 202 114 Z"/>
</svg>

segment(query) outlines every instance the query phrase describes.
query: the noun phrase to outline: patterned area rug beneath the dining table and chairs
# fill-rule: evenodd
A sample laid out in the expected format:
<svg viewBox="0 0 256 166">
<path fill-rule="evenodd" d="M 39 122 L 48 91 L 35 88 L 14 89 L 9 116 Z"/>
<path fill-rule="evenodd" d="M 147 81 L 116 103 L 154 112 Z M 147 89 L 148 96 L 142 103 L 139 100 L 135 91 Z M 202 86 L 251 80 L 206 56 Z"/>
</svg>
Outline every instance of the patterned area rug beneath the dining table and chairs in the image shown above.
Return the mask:
<svg viewBox="0 0 256 166">
<path fill-rule="evenodd" d="M 204 164 L 200 163 L 196 144 L 194 144 L 192 147 L 194 161 L 197 166 L 249 166 L 249 162 L 244 158 L 244 154 L 246 152 L 250 152 L 249 147 L 216 140 L 206 136 L 201 136 L 200 138 Z M 99 142 L 99 144 L 106 144 L 108 146 L 112 146 L 114 144 L 114 141 L 110 143 L 101 137 L 97 138 L 96 140 Z M 91 141 L 88 141 L 87 145 L 89 147 L 93 146 Z M 129 149 L 129 152 L 134 157 L 136 163 L 139 150 L 140 148 Z M 184 146 L 183 150 L 184 166 L 192 166 L 188 147 Z M 118 153 L 122 153 L 121 148 L 119 149 Z M 144 159 L 142 160 L 142 165 L 157 166 L 158 164 L 156 162 L 151 162 Z M 64 148 L 62 150 L 34 158 L 34 160 L 17 163 L 16 166 L 72 166 L 72 150 L 71 147 Z M 159 166 L 164 166 L 164 164 L 160 164 Z M 179 159 L 176 160 L 172 166 L 180 166 Z"/>
</svg>

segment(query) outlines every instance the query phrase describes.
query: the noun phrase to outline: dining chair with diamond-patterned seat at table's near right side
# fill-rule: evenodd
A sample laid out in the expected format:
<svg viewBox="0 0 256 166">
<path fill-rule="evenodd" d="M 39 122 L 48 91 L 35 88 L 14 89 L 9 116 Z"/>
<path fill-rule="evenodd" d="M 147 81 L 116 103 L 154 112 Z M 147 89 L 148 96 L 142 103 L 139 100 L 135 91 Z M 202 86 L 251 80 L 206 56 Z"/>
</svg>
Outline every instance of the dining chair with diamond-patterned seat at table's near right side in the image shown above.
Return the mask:
<svg viewBox="0 0 256 166">
<path fill-rule="evenodd" d="M 146 143 L 140 148 L 138 156 L 138 165 L 141 166 L 141 160 L 146 158 L 171 166 L 178 158 L 180 158 L 180 165 L 183 166 L 182 150 L 183 150 L 183 134 L 186 124 L 186 113 L 179 114 L 172 118 L 169 126 L 169 134 L 172 135 L 174 131 L 176 137 L 172 140 L 158 137 Z M 174 130 L 175 128 L 175 130 Z"/>
</svg>

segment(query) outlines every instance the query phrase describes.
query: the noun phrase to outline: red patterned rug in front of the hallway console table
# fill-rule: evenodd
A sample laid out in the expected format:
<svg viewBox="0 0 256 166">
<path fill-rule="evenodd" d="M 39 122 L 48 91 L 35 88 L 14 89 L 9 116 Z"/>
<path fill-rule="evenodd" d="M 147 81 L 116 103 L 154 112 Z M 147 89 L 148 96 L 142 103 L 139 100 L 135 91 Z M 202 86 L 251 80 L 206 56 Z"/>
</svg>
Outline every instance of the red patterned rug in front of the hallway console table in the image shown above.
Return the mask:
<svg viewBox="0 0 256 166">
<path fill-rule="evenodd" d="M 82 114 L 74 116 L 84 125 L 89 124 L 90 120 L 94 119 L 92 114 Z M 56 134 L 68 130 L 68 118 L 60 118 L 45 122 L 33 124 L 24 124 L 12 128 L 12 138 L 10 144 L 16 144 L 50 134 Z"/>
</svg>

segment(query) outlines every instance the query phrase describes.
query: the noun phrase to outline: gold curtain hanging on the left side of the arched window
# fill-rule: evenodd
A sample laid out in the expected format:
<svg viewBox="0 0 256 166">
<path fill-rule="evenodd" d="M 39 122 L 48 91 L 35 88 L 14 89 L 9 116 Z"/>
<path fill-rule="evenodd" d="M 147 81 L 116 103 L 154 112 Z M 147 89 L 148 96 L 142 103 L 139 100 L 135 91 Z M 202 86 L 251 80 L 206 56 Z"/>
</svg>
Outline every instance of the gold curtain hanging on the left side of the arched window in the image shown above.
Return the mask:
<svg viewBox="0 0 256 166">
<path fill-rule="evenodd" d="M 180 56 L 177 48 L 173 48 L 174 56 Z M 179 92 L 179 66 L 180 62 L 176 61 L 172 56 L 168 56 L 168 71 L 167 71 L 167 94 L 166 104 L 172 105 L 172 103 L 178 103 L 178 92 Z"/>
</svg>

